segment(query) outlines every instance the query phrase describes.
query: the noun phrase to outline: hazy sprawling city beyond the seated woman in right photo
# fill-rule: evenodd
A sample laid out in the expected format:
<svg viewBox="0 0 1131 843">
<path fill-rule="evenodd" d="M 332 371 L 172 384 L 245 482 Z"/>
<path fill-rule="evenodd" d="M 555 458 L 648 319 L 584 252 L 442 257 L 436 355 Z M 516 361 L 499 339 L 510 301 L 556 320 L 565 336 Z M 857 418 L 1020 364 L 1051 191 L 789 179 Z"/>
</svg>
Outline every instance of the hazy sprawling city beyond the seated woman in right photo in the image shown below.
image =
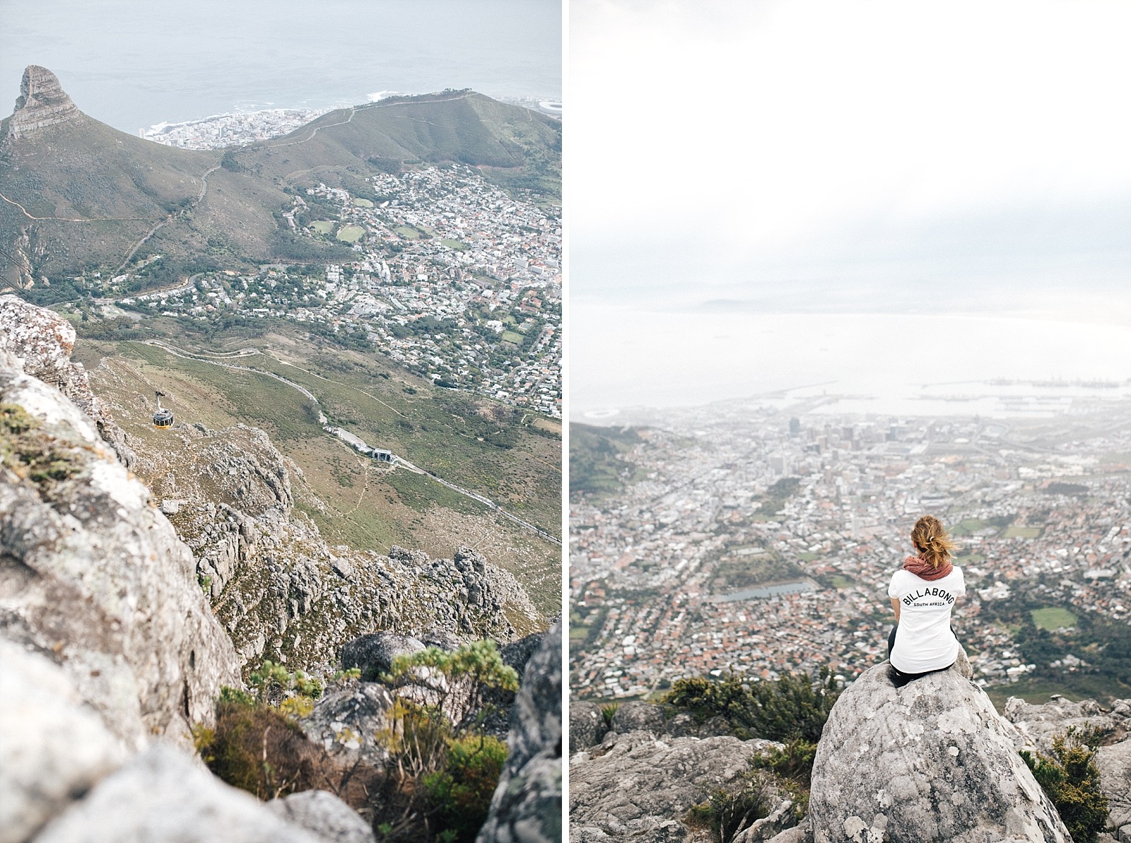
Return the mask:
<svg viewBox="0 0 1131 843">
<path fill-rule="evenodd" d="M 955 627 L 979 684 L 1116 658 L 1096 635 L 1131 618 L 1122 402 L 1009 420 L 661 415 L 619 434 L 623 488 L 571 507 L 578 696 L 822 666 L 851 680 L 887 658 L 887 586 L 925 513 L 960 542 Z"/>
</svg>

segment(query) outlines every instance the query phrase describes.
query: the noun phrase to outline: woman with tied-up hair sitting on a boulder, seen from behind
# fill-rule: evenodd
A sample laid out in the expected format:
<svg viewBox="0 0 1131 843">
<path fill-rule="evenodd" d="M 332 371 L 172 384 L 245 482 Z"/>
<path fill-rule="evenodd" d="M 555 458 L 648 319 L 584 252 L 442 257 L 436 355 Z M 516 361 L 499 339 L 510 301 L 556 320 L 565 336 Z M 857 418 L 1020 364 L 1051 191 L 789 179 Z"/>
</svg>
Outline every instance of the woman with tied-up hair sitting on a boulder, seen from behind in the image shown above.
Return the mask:
<svg viewBox="0 0 1131 843">
<path fill-rule="evenodd" d="M 966 593 L 962 570 L 950 564 L 955 542 L 939 519 L 924 515 L 916 521 L 912 542 L 916 555 L 904 559 L 888 586 L 896 611 L 896 625 L 888 636 L 888 661 L 897 686 L 955 663 L 958 638 L 950 627 L 950 610 Z"/>
</svg>

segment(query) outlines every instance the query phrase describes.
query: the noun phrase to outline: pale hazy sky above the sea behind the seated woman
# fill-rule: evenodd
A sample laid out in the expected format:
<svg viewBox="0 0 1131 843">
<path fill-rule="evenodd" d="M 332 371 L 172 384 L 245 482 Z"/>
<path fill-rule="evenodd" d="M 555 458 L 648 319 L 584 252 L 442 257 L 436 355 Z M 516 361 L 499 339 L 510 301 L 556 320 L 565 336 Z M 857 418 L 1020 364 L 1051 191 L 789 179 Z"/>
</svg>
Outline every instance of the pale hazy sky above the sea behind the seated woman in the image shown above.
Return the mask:
<svg viewBox="0 0 1131 843">
<path fill-rule="evenodd" d="M 569 26 L 575 321 L 1131 318 L 1131 3 L 572 0 Z"/>
</svg>

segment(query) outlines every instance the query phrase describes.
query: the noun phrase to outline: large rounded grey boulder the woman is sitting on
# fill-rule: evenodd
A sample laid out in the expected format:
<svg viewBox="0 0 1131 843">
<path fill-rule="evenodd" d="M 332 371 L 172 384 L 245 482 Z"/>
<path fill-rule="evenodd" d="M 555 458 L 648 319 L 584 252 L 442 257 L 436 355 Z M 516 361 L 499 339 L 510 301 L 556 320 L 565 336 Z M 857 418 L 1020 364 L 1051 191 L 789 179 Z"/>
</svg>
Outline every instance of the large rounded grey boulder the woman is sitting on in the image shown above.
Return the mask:
<svg viewBox="0 0 1131 843">
<path fill-rule="evenodd" d="M 962 655 L 896 688 L 882 662 L 844 690 L 813 764 L 817 843 L 1069 841 L 1016 729 L 968 671 Z"/>
</svg>

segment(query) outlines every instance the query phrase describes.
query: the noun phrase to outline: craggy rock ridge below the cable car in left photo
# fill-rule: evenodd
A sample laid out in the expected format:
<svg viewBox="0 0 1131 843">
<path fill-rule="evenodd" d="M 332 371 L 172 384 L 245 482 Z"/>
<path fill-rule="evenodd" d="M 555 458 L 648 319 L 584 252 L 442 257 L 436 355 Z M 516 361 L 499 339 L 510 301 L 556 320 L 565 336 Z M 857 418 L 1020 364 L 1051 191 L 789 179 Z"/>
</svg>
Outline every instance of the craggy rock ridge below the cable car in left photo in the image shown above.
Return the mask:
<svg viewBox="0 0 1131 843">
<path fill-rule="evenodd" d="M 192 548 L 201 586 L 245 664 L 326 673 L 366 633 L 508 643 L 546 624 L 515 577 L 470 548 L 451 558 L 330 548 L 294 509 L 300 469 L 258 428 L 174 424 L 135 470 Z"/>
</svg>

